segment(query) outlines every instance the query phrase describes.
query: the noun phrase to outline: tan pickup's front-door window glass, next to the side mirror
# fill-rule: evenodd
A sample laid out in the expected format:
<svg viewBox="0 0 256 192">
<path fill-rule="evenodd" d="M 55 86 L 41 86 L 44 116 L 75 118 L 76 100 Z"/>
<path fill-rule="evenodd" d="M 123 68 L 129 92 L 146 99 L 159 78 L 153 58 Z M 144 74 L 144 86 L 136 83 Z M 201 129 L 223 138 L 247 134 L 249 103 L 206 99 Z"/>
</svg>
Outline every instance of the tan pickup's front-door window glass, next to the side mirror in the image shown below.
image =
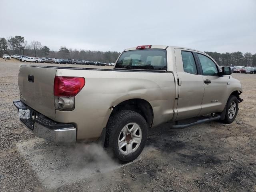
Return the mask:
<svg viewBox="0 0 256 192">
<path fill-rule="evenodd" d="M 218 75 L 218 69 L 216 64 L 208 57 L 197 54 L 202 66 L 203 75 L 210 75 L 210 76 L 217 76 Z"/>
</svg>

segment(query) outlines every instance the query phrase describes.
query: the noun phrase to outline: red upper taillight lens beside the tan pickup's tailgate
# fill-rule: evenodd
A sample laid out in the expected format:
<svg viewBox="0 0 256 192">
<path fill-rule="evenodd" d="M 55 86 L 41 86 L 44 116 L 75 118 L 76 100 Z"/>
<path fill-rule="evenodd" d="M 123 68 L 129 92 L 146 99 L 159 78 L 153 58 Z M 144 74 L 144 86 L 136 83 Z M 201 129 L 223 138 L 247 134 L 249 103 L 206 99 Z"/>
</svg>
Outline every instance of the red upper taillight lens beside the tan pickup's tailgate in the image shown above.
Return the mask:
<svg viewBox="0 0 256 192">
<path fill-rule="evenodd" d="M 85 79 L 83 77 L 62 77 L 54 78 L 54 96 L 76 96 L 84 87 Z"/>
</svg>

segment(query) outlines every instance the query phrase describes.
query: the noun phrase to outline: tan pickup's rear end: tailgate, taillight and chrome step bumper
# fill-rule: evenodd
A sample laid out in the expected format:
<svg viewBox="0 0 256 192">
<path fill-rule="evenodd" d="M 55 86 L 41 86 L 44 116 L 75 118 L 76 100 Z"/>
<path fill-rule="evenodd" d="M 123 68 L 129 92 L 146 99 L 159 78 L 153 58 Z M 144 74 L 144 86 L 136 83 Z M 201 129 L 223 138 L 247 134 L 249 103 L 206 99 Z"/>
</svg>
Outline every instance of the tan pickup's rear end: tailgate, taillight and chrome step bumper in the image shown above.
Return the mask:
<svg viewBox="0 0 256 192">
<path fill-rule="evenodd" d="M 84 87 L 84 78 L 55 76 L 56 67 L 20 67 L 20 100 L 14 101 L 20 120 L 40 138 L 55 143 L 74 144 L 76 128 L 57 123 L 56 109 L 73 110 L 74 97 Z"/>
</svg>

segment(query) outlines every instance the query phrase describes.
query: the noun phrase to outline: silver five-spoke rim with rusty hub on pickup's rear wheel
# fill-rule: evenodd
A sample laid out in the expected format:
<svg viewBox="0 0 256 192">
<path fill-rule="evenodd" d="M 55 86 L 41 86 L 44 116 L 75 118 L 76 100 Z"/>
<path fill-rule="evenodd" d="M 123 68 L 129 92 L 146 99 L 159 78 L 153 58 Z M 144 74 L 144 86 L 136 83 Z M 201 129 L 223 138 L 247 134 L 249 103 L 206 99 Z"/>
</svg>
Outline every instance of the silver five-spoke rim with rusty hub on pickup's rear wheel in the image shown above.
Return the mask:
<svg viewBox="0 0 256 192">
<path fill-rule="evenodd" d="M 118 149 L 124 155 L 132 154 L 139 148 L 141 140 L 140 126 L 136 123 L 128 123 L 118 136 Z"/>
</svg>

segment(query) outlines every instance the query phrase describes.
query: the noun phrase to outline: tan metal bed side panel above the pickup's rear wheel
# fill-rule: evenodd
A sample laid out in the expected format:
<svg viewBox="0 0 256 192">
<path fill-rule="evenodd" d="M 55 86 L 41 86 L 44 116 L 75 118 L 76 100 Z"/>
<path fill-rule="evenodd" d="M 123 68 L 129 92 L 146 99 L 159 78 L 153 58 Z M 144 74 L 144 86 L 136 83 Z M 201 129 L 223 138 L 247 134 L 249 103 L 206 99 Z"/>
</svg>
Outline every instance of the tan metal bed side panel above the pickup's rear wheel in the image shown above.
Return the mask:
<svg viewBox="0 0 256 192">
<path fill-rule="evenodd" d="M 154 126 L 173 117 L 176 93 L 172 73 L 58 69 L 56 76 L 80 76 L 86 81 L 76 95 L 73 111 L 56 110 L 56 121 L 76 122 L 77 140 L 96 140 L 108 122 L 111 107 L 129 99 L 151 104 Z"/>
</svg>

